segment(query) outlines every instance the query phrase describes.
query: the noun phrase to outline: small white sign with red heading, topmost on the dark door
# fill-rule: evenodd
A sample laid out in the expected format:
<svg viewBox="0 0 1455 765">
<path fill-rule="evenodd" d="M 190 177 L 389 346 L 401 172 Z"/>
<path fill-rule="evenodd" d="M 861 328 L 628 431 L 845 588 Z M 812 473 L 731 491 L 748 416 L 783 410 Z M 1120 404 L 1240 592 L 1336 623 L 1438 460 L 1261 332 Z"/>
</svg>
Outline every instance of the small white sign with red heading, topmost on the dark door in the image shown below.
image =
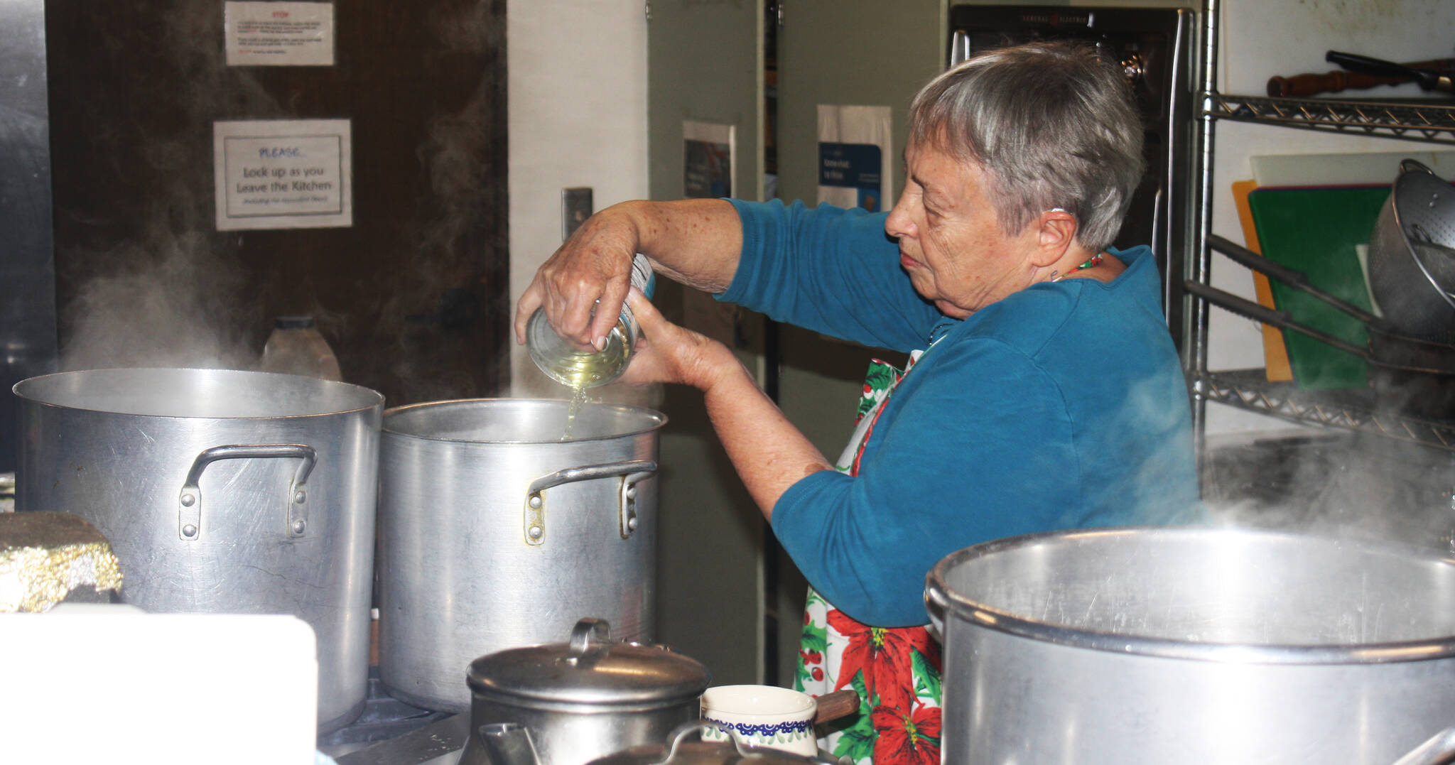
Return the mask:
<svg viewBox="0 0 1455 765">
<path fill-rule="evenodd" d="M 332 67 L 333 3 L 223 4 L 228 67 Z"/>
</svg>

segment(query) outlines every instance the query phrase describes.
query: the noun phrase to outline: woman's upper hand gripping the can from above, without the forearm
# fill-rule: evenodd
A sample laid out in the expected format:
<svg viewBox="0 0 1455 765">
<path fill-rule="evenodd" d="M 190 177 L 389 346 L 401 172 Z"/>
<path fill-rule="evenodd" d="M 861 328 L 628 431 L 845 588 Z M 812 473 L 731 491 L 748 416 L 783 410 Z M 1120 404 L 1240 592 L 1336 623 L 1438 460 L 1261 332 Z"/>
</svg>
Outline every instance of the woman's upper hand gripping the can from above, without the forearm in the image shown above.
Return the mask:
<svg viewBox="0 0 1455 765">
<path fill-rule="evenodd" d="M 527 321 L 535 308 L 544 308 L 562 337 L 604 348 L 631 287 L 637 246 L 636 221 L 624 205 L 586 218 L 521 294 L 515 304 L 515 342 L 525 343 Z"/>
</svg>

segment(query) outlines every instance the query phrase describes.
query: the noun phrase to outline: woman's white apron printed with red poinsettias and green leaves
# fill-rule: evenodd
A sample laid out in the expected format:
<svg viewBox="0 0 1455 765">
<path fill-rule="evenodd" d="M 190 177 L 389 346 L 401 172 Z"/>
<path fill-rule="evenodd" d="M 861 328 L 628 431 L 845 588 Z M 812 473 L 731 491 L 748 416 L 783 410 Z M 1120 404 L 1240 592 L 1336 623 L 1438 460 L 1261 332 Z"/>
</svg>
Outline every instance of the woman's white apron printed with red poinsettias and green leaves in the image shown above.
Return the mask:
<svg viewBox="0 0 1455 765">
<path fill-rule="evenodd" d="M 864 444 L 885 401 L 921 353 L 909 353 L 902 372 L 873 359 L 838 471 L 858 474 Z M 860 624 L 809 588 L 793 686 L 815 697 L 841 688 L 858 691 L 858 713 L 845 718 L 848 727 L 819 740 L 837 759 L 854 765 L 938 765 L 940 644 L 924 627 Z"/>
</svg>

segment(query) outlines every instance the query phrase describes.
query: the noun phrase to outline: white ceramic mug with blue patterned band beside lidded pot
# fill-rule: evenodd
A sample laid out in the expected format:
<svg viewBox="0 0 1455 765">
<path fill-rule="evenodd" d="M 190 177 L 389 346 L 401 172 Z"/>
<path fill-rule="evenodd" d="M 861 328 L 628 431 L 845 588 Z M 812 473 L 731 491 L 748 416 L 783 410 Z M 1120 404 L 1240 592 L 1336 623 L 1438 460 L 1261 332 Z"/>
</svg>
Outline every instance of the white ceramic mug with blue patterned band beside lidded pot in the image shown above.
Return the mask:
<svg viewBox="0 0 1455 765">
<path fill-rule="evenodd" d="M 703 720 L 723 726 L 746 746 L 818 755 L 813 714 L 818 701 L 799 691 L 773 685 L 719 685 L 703 692 Z M 704 740 L 728 740 L 719 730 L 704 730 Z"/>
</svg>

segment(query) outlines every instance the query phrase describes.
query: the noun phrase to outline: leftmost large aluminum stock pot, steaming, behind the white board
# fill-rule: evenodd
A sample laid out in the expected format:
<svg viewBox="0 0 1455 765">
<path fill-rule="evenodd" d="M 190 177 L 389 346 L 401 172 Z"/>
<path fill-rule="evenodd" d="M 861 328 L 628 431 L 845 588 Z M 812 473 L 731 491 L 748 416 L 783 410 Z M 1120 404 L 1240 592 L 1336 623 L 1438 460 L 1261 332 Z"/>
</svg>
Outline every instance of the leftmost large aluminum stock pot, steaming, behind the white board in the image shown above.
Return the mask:
<svg viewBox="0 0 1455 765">
<path fill-rule="evenodd" d="M 303 618 L 319 640 L 320 727 L 358 717 L 378 393 L 227 369 L 60 372 L 15 393 L 17 509 L 96 525 L 121 560 L 122 599 L 146 611 Z M 178 646 L 199 670 L 218 659 Z"/>
</svg>

